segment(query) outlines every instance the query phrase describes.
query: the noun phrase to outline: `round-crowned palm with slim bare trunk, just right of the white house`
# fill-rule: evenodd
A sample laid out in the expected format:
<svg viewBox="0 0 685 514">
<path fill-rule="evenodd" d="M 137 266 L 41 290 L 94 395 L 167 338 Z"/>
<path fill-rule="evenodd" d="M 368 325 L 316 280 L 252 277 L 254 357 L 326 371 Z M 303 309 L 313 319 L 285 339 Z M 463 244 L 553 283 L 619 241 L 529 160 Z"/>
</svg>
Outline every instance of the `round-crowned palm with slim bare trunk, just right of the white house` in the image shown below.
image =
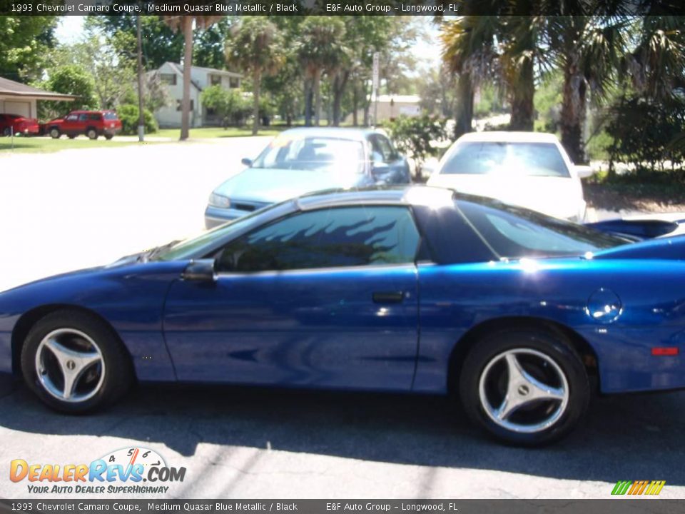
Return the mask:
<svg viewBox="0 0 685 514">
<path fill-rule="evenodd" d="M 283 64 L 280 31 L 268 18 L 245 16 L 231 30 L 226 43 L 226 61 L 252 74 L 253 125 L 252 133 L 259 130 L 259 96 L 262 78 L 273 74 Z"/>
</svg>

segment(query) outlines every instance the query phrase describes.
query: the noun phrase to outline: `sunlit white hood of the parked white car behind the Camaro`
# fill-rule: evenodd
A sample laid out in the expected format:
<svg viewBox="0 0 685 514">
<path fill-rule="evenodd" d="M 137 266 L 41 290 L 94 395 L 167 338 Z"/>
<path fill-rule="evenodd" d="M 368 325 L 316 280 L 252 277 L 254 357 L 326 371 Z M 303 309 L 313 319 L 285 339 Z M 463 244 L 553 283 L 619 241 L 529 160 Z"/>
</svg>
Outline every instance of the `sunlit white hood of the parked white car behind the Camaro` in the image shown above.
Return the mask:
<svg viewBox="0 0 685 514">
<path fill-rule="evenodd" d="M 489 196 L 557 218 L 572 218 L 582 207 L 582 188 L 570 177 L 434 174 L 429 186 Z"/>
</svg>

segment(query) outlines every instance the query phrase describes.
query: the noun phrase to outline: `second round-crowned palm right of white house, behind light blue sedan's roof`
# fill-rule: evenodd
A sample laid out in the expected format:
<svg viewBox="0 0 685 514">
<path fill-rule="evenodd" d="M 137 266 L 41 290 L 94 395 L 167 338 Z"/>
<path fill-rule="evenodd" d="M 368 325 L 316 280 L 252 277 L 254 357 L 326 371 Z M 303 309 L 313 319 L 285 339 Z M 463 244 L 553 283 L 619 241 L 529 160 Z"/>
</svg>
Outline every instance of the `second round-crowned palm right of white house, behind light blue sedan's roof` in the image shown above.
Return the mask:
<svg viewBox="0 0 685 514">
<path fill-rule="evenodd" d="M 321 76 L 325 71 L 335 71 L 340 66 L 344 53 L 339 43 L 344 34 L 345 24 L 333 16 L 308 16 L 300 25 L 297 54 L 313 88 L 316 126 L 321 114 Z M 307 118 L 310 119 L 309 112 Z"/>
</svg>

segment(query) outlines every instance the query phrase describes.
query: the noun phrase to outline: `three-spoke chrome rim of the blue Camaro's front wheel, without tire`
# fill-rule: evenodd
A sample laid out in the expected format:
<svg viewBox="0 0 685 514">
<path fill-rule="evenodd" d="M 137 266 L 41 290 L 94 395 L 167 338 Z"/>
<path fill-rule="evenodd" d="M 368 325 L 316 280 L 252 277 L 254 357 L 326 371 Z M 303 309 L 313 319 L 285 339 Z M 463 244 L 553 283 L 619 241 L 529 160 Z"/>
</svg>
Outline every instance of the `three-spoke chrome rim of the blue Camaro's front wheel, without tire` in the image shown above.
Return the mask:
<svg viewBox="0 0 685 514">
<path fill-rule="evenodd" d="M 58 400 L 78 403 L 93 398 L 105 378 L 105 361 L 95 341 L 74 328 L 59 328 L 36 351 L 36 373 Z"/>
</svg>

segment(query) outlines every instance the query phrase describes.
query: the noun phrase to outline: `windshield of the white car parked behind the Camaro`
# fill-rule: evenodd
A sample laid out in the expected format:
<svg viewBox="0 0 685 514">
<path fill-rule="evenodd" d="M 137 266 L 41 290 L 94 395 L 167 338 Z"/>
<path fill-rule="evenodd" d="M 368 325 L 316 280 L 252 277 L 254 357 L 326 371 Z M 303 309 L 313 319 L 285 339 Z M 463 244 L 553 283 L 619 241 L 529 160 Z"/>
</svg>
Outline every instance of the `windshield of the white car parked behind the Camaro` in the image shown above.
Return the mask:
<svg viewBox="0 0 685 514">
<path fill-rule="evenodd" d="M 554 143 L 465 141 L 447 156 L 441 174 L 569 177 Z"/>
</svg>

